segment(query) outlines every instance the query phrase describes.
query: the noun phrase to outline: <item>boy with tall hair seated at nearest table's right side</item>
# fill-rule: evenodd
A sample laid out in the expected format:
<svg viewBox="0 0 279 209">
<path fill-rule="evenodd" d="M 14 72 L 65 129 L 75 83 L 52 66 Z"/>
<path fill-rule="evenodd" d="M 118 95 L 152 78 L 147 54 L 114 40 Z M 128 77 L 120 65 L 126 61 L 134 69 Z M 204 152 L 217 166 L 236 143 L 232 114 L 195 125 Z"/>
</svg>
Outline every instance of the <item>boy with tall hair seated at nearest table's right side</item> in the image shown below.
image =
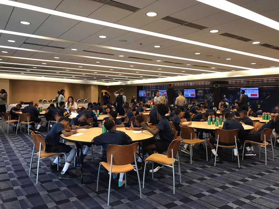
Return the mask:
<svg viewBox="0 0 279 209">
<path fill-rule="evenodd" d="M 170 127 L 170 123 L 165 118 L 168 111 L 169 109 L 165 104 L 158 104 L 157 115 L 159 123 L 155 129 L 149 128 L 145 122 L 141 123 L 142 127 L 152 133 L 153 136 L 156 136 L 157 134 L 160 136 L 160 139 L 153 138 L 149 142 L 143 142 L 144 150 L 146 150 L 149 155 L 152 155 L 155 150 L 158 152 L 166 151 L 174 138 L 174 133 Z M 138 162 L 139 161 L 140 160 L 138 160 Z M 158 163 L 154 163 L 154 172 L 157 172 L 162 167 L 163 166 L 160 167 Z M 152 169 L 149 170 L 149 172 L 152 172 Z"/>
</svg>

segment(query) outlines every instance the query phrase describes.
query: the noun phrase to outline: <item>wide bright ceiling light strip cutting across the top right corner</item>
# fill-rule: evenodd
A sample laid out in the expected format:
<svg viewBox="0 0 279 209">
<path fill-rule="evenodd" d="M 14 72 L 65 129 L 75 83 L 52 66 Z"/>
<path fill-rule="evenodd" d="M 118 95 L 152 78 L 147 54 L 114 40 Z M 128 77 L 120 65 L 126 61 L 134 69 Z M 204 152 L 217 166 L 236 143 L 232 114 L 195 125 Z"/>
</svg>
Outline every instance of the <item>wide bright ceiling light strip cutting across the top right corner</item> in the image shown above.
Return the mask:
<svg viewBox="0 0 279 209">
<path fill-rule="evenodd" d="M 202 2 L 204 4 L 210 5 L 212 7 L 216 7 L 218 9 L 230 12 L 234 15 L 238 15 L 241 17 L 244 17 L 248 20 L 252 20 L 254 22 L 257 22 L 259 24 L 263 24 L 265 26 L 268 26 L 270 28 L 273 28 L 275 30 L 279 30 L 279 23 L 277 21 L 271 20 L 263 15 L 260 15 L 256 12 L 253 12 L 251 10 L 245 9 L 241 6 L 238 6 L 236 4 L 233 4 L 232 2 L 228 2 L 225 0 L 196 0 L 198 2 Z M 267 2 L 263 2 L 268 4 Z"/>
</svg>

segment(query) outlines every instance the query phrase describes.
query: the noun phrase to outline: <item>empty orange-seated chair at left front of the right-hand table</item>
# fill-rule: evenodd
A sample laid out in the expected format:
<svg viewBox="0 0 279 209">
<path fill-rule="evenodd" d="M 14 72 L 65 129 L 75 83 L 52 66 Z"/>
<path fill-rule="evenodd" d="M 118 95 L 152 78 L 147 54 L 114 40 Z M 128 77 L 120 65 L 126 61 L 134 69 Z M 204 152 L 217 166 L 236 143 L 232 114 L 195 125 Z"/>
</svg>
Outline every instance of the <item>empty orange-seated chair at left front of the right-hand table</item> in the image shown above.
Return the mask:
<svg viewBox="0 0 279 209">
<path fill-rule="evenodd" d="M 200 143 L 205 143 L 206 145 L 206 161 L 208 161 L 208 157 L 207 157 L 207 143 L 206 141 L 202 140 L 202 139 L 197 139 L 195 138 L 195 130 L 192 127 L 182 127 L 180 126 L 180 135 L 181 138 L 183 138 L 184 140 L 182 141 L 185 144 L 188 144 L 190 146 L 190 163 L 192 164 L 192 156 L 193 156 L 193 146 L 195 144 L 200 144 Z"/>
</svg>

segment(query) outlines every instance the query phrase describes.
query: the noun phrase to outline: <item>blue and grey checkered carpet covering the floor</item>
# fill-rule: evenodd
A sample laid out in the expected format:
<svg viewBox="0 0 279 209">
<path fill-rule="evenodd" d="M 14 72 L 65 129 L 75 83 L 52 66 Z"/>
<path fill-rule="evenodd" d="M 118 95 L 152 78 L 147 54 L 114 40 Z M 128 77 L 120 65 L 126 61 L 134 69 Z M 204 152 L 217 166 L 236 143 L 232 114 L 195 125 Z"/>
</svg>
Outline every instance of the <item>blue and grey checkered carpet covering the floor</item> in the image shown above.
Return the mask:
<svg viewBox="0 0 279 209">
<path fill-rule="evenodd" d="M 46 132 L 42 135 L 45 137 Z M 90 151 L 84 161 L 84 184 L 80 183 L 80 177 L 59 180 L 59 173 L 48 169 L 54 158 L 47 158 L 40 162 L 39 182 L 36 185 L 36 156 L 31 176 L 28 176 L 32 138 L 26 133 L 15 136 L 11 129 L 7 135 L 7 126 L 4 124 L 0 139 L 0 207 L 3 209 L 279 208 L 278 147 L 274 150 L 274 161 L 271 148 L 268 147 L 267 166 L 262 153 L 261 158 L 257 155 L 241 161 L 241 168 L 231 162 L 230 149 L 218 152 L 222 162 L 217 163 L 216 167 L 214 163 L 206 162 L 206 156 L 199 147 L 194 148 L 192 165 L 189 156 L 179 150 L 182 183 L 179 183 L 176 167 L 175 195 L 170 168 L 164 167 L 154 173 L 153 180 L 148 174 L 142 199 L 139 198 L 136 173 L 131 171 L 127 173 L 126 188 L 118 188 L 118 180 L 112 180 L 111 203 L 107 207 L 108 172 L 101 170 L 99 192 L 96 192 L 98 166 L 91 162 Z M 97 162 L 100 160 L 100 147 L 93 148 L 94 162 Z M 72 165 L 70 169 L 73 169 Z M 142 181 L 143 170 L 139 175 Z"/>
</svg>

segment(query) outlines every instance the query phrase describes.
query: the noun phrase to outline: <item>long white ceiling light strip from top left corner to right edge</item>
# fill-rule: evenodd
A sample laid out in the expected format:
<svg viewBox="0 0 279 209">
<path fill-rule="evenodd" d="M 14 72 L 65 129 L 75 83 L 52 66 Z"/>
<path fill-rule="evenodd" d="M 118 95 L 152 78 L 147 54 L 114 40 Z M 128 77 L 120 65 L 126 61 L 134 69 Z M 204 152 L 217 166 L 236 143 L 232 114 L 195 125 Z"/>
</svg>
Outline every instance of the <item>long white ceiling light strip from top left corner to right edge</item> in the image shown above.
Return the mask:
<svg viewBox="0 0 279 209">
<path fill-rule="evenodd" d="M 112 27 L 112 28 L 118 28 L 118 29 L 122 29 L 122 30 L 126 30 L 126 31 L 135 32 L 135 33 L 141 33 L 141 34 L 145 34 L 145 35 L 170 39 L 170 40 L 174 40 L 174 41 L 180 41 L 180 42 L 194 44 L 194 45 L 198 45 L 198 46 L 204 46 L 204 47 L 208 47 L 208 48 L 212 48 L 212 49 L 223 50 L 223 51 L 228 51 L 228 52 L 232 52 L 232 53 L 257 57 L 260 59 L 268 59 L 268 60 L 272 60 L 275 62 L 279 62 L 278 59 L 274 59 L 271 57 L 265 57 L 265 56 L 258 55 L 258 54 L 252 54 L 252 53 L 248 53 L 248 52 L 228 49 L 228 48 L 224 48 L 221 46 L 215 46 L 215 45 L 211 45 L 211 44 L 201 43 L 198 41 L 192 41 L 192 40 L 169 36 L 169 35 L 165 35 L 165 34 L 161 34 L 161 33 L 155 33 L 155 32 L 142 30 L 142 29 L 138 29 L 138 28 L 132 28 L 132 27 L 124 26 L 124 25 L 109 23 L 109 22 L 105 22 L 105 21 L 101 21 L 101 20 L 95 20 L 95 19 L 91 19 L 88 17 L 73 15 L 73 14 L 69 14 L 69 13 L 65 13 L 65 12 L 61 12 L 61 11 L 55 11 L 55 10 L 51 10 L 51 9 L 47 9 L 47 8 L 43 8 L 43 7 L 37 7 L 37 6 L 30 5 L 30 4 L 24 4 L 24 3 L 14 2 L 14 1 L 10 1 L 10 0 L 1 0 L 0 4 L 9 5 L 12 7 L 19 7 L 19 8 L 23 8 L 23 9 L 32 10 L 32 11 L 38 11 L 38 12 L 42 12 L 42 13 L 46 13 L 46 14 L 50 14 L 50 15 L 56 15 L 56 16 L 60 16 L 60 17 L 64 17 L 64 18 L 69 18 L 72 20 L 79 20 L 79 21 L 83 21 L 83 22 L 104 25 L 104 26 L 108 26 L 108 27 Z"/>
</svg>

